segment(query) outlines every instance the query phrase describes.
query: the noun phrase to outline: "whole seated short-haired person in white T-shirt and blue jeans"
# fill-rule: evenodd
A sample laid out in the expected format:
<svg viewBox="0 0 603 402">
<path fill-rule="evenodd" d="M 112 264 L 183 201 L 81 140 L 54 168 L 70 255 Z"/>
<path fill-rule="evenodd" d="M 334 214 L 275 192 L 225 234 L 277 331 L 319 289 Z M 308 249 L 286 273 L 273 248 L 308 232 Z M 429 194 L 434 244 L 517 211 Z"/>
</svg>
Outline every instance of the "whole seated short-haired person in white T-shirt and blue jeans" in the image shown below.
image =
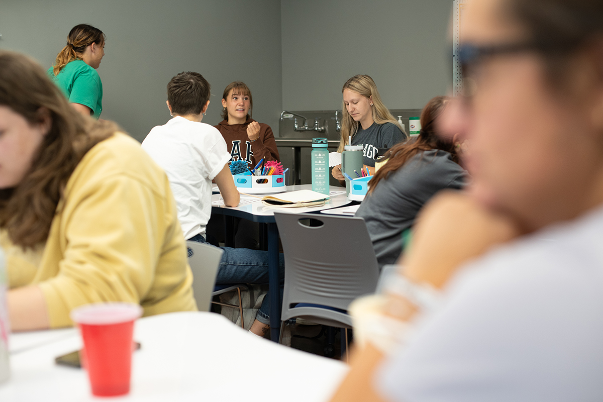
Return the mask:
<svg viewBox="0 0 603 402">
<path fill-rule="evenodd" d="M 230 174 L 230 153 L 219 131 L 202 122 L 209 106 L 210 85 L 197 72 L 182 72 L 168 83 L 169 112 L 174 118 L 154 127 L 142 148 L 165 170 L 178 207 L 186 240 L 206 242 L 205 228 L 212 211 L 212 180 L 224 204 L 239 204 L 239 192 Z M 209 244 L 209 243 L 208 243 Z M 217 284 L 268 283 L 267 251 L 222 247 Z M 280 277 L 285 261 L 279 256 Z M 282 292 L 282 289 L 281 289 Z M 251 332 L 263 336 L 269 327 L 270 305 L 264 298 Z"/>
</svg>

